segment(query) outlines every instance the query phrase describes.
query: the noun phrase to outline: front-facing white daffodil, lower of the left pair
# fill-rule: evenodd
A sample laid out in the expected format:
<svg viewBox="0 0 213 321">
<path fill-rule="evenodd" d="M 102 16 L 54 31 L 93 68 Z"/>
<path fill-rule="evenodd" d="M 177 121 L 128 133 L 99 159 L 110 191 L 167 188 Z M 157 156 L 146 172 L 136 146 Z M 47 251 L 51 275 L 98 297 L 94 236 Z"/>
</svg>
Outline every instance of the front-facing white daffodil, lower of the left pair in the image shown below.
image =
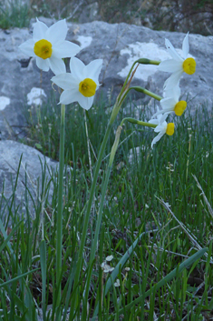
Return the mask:
<svg viewBox="0 0 213 321">
<path fill-rule="evenodd" d="M 102 59 L 93 60 L 84 65 L 76 57 L 70 61 L 71 73 L 55 75 L 51 79 L 54 84 L 63 89 L 59 104 L 68 105 L 78 102 L 82 108 L 91 108 L 94 95 L 99 87 L 99 75 L 102 70 Z"/>
</svg>

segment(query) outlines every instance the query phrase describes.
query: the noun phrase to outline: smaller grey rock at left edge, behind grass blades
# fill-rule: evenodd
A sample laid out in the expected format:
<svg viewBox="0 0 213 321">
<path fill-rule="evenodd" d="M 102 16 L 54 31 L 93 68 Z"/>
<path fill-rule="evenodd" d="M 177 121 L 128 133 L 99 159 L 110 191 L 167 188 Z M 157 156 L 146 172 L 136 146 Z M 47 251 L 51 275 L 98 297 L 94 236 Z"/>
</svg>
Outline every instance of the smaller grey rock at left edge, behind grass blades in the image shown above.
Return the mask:
<svg viewBox="0 0 213 321">
<path fill-rule="evenodd" d="M 0 193 L 2 196 L 0 217 L 5 219 L 10 206 L 13 213 L 15 208 L 18 208 L 17 214 L 25 216 L 26 203 L 33 219 L 34 204 L 41 206 L 42 212 L 44 202 L 52 200 L 51 177 L 57 170 L 57 166 L 57 162 L 44 157 L 33 147 L 12 140 L 0 141 Z"/>
</svg>

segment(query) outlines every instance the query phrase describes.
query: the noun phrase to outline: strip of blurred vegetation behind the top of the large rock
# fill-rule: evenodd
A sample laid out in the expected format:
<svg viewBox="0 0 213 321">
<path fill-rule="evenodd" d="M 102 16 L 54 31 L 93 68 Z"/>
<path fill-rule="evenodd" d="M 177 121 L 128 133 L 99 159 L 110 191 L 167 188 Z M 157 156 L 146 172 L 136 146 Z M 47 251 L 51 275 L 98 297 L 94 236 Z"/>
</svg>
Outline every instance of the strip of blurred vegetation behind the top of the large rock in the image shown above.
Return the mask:
<svg viewBox="0 0 213 321">
<path fill-rule="evenodd" d="M 155 30 L 212 35 L 212 0 L 2 0 L 0 28 L 24 27 L 43 15 L 72 22 L 102 20 L 145 25 Z"/>
</svg>

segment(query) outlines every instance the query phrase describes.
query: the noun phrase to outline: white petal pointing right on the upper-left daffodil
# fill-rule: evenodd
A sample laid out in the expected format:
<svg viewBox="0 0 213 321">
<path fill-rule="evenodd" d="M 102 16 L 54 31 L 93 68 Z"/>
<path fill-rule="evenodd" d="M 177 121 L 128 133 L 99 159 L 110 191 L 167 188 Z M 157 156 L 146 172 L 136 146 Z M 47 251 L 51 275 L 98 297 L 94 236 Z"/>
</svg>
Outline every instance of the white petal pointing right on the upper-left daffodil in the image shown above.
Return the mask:
<svg viewBox="0 0 213 321">
<path fill-rule="evenodd" d="M 61 45 L 53 45 L 53 56 L 57 58 L 68 58 L 77 55 L 81 48 L 79 45 L 64 40 Z"/>
</svg>

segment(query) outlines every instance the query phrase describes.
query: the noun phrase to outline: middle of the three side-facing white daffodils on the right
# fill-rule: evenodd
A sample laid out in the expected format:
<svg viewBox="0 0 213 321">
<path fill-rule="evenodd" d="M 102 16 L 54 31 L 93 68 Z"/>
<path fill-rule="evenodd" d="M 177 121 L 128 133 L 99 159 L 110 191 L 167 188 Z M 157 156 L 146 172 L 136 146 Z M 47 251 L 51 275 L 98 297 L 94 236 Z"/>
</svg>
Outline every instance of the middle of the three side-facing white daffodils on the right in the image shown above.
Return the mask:
<svg viewBox="0 0 213 321">
<path fill-rule="evenodd" d="M 173 89 L 166 90 L 164 92 L 164 98 L 160 100 L 162 109 L 155 113 L 152 117 L 159 114 L 167 114 L 174 112 L 176 115 L 182 115 L 187 107 L 185 100 L 179 101 L 180 89 L 179 85 L 176 85 Z"/>
</svg>

